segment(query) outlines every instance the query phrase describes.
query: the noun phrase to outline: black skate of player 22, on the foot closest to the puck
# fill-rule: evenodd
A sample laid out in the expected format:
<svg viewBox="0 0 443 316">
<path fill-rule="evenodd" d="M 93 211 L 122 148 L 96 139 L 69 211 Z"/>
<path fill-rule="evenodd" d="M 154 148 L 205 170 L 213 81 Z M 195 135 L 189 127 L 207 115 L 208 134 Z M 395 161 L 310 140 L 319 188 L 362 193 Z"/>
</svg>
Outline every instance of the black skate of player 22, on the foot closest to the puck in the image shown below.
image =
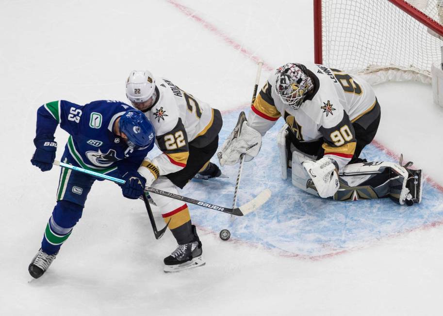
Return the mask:
<svg viewBox="0 0 443 316">
<path fill-rule="evenodd" d="M 192 225 L 194 240 L 178 245 L 171 255 L 164 258 L 164 272 L 178 272 L 186 269 L 203 266 L 206 262 L 201 257 L 202 248 L 197 236 L 196 226 Z"/>
</svg>

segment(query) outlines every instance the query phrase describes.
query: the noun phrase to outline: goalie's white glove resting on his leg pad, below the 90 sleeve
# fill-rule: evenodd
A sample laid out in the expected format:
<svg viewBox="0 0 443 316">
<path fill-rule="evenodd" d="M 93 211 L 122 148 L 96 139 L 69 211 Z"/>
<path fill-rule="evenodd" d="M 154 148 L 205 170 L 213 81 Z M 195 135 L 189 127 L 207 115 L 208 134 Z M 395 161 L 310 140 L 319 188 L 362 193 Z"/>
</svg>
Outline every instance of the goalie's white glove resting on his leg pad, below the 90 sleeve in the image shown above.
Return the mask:
<svg viewBox="0 0 443 316">
<path fill-rule="evenodd" d="M 311 177 L 320 197 L 333 196 L 340 188 L 336 164 L 335 160 L 327 157 L 303 162 L 303 167 Z"/>
</svg>

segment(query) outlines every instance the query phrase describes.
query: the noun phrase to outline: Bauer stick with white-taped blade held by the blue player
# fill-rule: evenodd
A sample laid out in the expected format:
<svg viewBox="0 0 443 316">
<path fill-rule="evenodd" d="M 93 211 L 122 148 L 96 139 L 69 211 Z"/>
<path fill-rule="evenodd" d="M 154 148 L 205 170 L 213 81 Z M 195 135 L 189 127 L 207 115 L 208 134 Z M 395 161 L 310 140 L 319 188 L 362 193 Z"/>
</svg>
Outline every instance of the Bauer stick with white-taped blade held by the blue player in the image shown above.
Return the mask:
<svg viewBox="0 0 443 316">
<path fill-rule="evenodd" d="M 120 183 L 120 184 L 125 183 L 125 180 L 123 180 L 123 179 L 115 178 L 115 177 L 107 175 L 107 174 L 100 174 L 95 171 L 76 167 L 76 166 L 73 166 L 73 165 L 70 165 L 70 164 L 67 164 L 64 162 L 60 162 L 57 160 L 54 160 L 53 164 L 56 166 L 75 170 L 75 171 L 81 172 L 83 174 L 89 174 L 89 175 L 96 176 L 98 178 L 111 180 L 116 183 Z M 219 211 L 219 212 L 224 212 L 224 213 L 228 213 L 228 214 L 232 214 L 232 215 L 236 215 L 236 216 L 243 216 L 243 215 L 246 215 L 246 214 L 254 211 L 258 207 L 263 205 L 263 203 L 265 203 L 271 197 L 271 190 L 265 189 L 262 192 L 260 192 L 259 195 L 257 195 L 255 198 L 253 198 L 251 201 L 247 202 L 246 204 L 244 204 L 240 207 L 228 208 L 228 207 L 218 206 L 218 205 L 203 202 L 203 201 L 194 200 L 194 199 L 182 196 L 182 195 L 166 192 L 164 190 L 159 190 L 159 189 L 155 189 L 155 188 L 151 188 L 151 187 L 145 188 L 145 191 L 152 192 L 152 193 L 159 194 L 159 195 L 163 195 L 163 196 L 167 196 L 172 199 L 180 200 L 180 201 L 183 201 L 186 203 L 191 203 L 191 204 L 211 208 L 211 209 Z"/>
</svg>

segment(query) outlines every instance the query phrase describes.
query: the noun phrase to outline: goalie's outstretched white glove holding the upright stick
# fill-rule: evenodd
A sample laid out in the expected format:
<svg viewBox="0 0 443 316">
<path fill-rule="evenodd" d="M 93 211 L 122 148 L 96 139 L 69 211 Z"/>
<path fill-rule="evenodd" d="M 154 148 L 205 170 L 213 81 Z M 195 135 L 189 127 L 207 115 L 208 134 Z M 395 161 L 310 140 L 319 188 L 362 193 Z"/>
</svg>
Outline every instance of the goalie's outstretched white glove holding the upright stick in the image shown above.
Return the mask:
<svg viewBox="0 0 443 316">
<path fill-rule="evenodd" d="M 258 155 L 262 147 L 262 135 L 254 128 L 247 126 L 246 119 L 230 133 L 217 153 L 220 165 L 235 165 L 245 154 L 245 161 L 250 161 Z"/>
</svg>

